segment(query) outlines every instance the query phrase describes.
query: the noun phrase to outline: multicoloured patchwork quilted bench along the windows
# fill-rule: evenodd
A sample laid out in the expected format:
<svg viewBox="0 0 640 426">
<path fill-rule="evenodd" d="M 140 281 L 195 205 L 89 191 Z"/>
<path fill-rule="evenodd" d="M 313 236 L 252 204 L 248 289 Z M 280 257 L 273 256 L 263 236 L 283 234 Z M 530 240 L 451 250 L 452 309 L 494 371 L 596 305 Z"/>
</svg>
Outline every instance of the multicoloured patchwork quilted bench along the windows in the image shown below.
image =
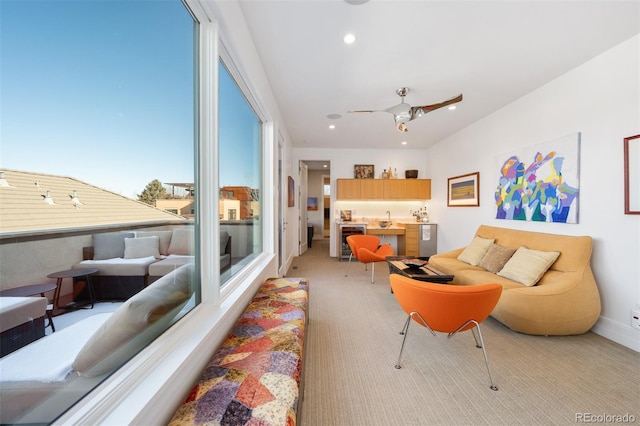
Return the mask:
<svg viewBox="0 0 640 426">
<path fill-rule="evenodd" d="M 307 279 L 268 279 L 169 424 L 295 425 L 308 300 Z"/>
</svg>

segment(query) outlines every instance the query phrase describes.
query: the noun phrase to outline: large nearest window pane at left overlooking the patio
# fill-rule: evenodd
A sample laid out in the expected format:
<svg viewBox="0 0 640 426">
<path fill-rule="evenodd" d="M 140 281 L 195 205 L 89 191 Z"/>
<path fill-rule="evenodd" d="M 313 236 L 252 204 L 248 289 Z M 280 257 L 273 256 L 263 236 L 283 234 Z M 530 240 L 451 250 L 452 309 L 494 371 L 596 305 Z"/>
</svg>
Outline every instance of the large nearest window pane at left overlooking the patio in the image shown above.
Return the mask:
<svg viewBox="0 0 640 426">
<path fill-rule="evenodd" d="M 94 321 L 100 303 L 78 322 L 56 304 L 55 332 L 0 359 L 0 423 L 47 424 L 201 299 L 197 24 L 180 0 L 3 1 L 0 16 L 0 168 L 9 182 L 0 195 L 16 208 L 16 217 L 3 216 L 0 225 L 12 236 L 1 245 L 0 289 L 99 260 L 96 294 L 113 291 L 107 298 L 122 307 L 137 298 L 102 329 Z M 30 220 L 23 226 L 20 217 Z M 105 248 L 98 234 L 110 237 L 100 241 L 122 237 L 124 252 L 105 246 L 109 254 L 96 259 Z M 94 249 L 88 258 L 85 246 Z M 138 268 L 149 269 L 107 276 L 104 262 L 111 258 L 147 259 Z M 163 268 L 150 269 L 159 262 Z M 192 266 L 175 274 L 181 265 Z M 63 300 L 88 288 L 63 284 Z M 86 327 L 77 326 L 86 319 Z M 44 350 L 29 354 L 40 341 Z M 77 353 L 70 349 L 76 346 Z M 21 362 L 7 367 L 14 354 Z"/>
</svg>

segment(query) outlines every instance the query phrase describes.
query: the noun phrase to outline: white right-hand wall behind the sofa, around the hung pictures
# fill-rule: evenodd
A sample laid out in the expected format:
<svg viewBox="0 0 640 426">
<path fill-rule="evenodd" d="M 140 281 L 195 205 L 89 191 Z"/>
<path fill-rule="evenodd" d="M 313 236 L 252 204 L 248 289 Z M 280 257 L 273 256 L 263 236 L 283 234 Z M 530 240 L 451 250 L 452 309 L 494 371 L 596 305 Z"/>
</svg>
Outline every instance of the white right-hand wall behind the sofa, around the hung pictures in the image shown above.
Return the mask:
<svg viewBox="0 0 640 426">
<path fill-rule="evenodd" d="M 594 239 L 602 299 L 594 331 L 640 351 L 630 311 L 640 303 L 640 216 L 624 214 L 624 137 L 640 133 L 640 36 L 443 140 L 428 152 L 438 250 L 466 245 L 480 224 Z M 496 155 L 580 132 L 578 224 L 496 220 Z M 447 208 L 447 178 L 480 172 L 478 208 Z"/>
</svg>

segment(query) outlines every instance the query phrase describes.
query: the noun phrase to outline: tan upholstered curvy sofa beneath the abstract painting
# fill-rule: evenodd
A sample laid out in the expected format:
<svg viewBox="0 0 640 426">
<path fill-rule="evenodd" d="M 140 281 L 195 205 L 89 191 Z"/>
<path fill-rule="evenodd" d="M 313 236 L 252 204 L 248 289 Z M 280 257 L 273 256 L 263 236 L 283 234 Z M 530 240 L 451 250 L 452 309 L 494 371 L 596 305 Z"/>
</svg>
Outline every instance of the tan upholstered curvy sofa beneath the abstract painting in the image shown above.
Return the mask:
<svg viewBox="0 0 640 426">
<path fill-rule="evenodd" d="M 537 283 L 530 286 L 507 278 L 511 275 L 504 273 L 509 261 L 516 260 L 516 254 L 507 260 L 502 269 L 499 264 L 497 267 L 495 264 L 487 266 L 487 259 L 484 257 L 482 260 L 485 262 L 481 260 L 479 266 L 459 260 L 458 257 L 465 248 L 431 256 L 429 264 L 442 272 L 453 274 L 455 284 L 501 284 L 502 296 L 491 313 L 492 317 L 514 331 L 537 335 L 581 334 L 598 320 L 600 295 L 590 265 L 591 237 L 485 225 L 481 225 L 476 231 L 474 242 L 476 237 L 494 240 L 493 244 L 500 246 L 503 251 L 525 246 L 535 251 L 559 252 L 557 260 L 550 260 L 550 268 Z M 528 268 L 528 264 L 520 265 L 522 269 Z M 498 271 L 494 273 L 483 266 Z"/>
</svg>

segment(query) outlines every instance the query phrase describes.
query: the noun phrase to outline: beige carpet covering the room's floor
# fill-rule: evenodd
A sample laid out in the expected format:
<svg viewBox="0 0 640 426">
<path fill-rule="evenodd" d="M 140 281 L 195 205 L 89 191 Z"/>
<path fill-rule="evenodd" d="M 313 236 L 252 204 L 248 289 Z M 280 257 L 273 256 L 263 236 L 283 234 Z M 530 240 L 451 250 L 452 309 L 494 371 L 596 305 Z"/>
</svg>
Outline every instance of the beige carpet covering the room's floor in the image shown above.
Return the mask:
<svg viewBox="0 0 640 426">
<path fill-rule="evenodd" d="M 433 337 L 414 323 L 395 369 L 405 314 L 388 267 L 373 285 L 370 269 L 352 262 L 345 278 L 346 268 L 314 240 L 287 274 L 310 281 L 301 425 L 640 423 L 640 354 L 594 333 L 528 336 L 489 318 L 494 392 L 471 333 Z"/>
</svg>

